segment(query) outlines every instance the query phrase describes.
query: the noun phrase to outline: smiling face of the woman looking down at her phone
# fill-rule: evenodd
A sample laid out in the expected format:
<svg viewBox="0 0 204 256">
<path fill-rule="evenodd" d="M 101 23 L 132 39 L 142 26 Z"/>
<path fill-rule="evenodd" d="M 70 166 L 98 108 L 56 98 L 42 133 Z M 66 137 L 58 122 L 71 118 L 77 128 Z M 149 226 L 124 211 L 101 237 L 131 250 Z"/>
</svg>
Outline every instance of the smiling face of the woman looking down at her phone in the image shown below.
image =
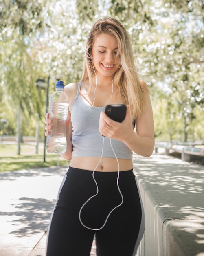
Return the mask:
<svg viewBox="0 0 204 256">
<path fill-rule="evenodd" d="M 118 43 L 110 34 L 99 34 L 93 42 L 92 58 L 97 76 L 113 76 L 120 67 Z"/>
</svg>

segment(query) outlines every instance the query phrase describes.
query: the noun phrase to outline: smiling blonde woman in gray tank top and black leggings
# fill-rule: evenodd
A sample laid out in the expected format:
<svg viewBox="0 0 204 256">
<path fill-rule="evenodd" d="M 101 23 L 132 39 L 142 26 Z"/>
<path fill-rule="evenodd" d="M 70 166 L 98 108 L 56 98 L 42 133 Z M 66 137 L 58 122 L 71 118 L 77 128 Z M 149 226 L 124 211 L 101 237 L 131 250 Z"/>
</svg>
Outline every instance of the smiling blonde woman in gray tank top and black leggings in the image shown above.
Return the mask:
<svg viewBox="0 0 204 256">
<path fill-rule="evenodd" d="M 104 18 L 93 25 L 81 82 L 64 91 L 70 104 L 68 146 L 61 156 L 70 166 L 50 221 L 46 255 L 88 256 L 94 235 L 97 256 L 135 255 L 144 215 L 132 151 L 152 154 L 154 128 L 148 88 L 138 79 L 120 22 Z M 121 103 L 127 105 L 123 122 L 103 112 L 105 105 Z M 46 136 L 51 122 L 46 114 Z"/>
</svg>

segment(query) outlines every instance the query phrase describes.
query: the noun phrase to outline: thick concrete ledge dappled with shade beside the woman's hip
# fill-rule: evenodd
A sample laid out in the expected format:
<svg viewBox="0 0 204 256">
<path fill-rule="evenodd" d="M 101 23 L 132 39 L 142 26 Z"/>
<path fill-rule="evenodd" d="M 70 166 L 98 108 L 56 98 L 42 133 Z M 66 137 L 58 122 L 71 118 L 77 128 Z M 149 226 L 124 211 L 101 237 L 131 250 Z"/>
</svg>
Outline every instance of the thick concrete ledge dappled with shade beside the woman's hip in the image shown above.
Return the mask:
<svg viewBox="0 0 204 256">
<path fill-rule="evenodd" d="M 138 256 L 204 256 L 204 167 L 167 155 L 134 155 L 145 209 Z"/>
</svg>

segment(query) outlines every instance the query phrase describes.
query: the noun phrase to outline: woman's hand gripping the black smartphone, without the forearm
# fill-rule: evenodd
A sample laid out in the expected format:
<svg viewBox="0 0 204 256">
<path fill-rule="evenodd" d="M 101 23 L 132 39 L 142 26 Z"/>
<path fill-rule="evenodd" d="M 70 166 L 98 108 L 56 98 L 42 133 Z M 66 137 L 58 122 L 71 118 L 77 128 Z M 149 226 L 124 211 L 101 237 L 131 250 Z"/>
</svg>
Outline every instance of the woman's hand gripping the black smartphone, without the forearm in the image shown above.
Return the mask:
<svg viewBox="0 0 204 256">
<path fill-rule="evenodd" d="M 129 137 L 131 133 L 134 132 L 129 105 L 127 105 L 125 119 L 121 123 L 110 119 L 110 117 L 108 117 L 104 112 L 101 112 L 99 119 L 99 132 L 105 137 L 125 142 L 125 138 L 127 138 L 127 136 Z"/>
</svg>

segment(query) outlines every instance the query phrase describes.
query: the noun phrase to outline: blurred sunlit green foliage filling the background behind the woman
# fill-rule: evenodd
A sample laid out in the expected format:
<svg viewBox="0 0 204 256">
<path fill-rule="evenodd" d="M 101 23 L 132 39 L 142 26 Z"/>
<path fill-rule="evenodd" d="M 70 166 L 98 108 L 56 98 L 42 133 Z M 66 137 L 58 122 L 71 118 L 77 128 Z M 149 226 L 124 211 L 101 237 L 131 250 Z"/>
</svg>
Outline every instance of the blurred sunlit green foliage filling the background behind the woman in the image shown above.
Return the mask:
<svg viewBox="0 0 204 256">
<path fill-rule="evenodd" d="M 80 80 L 92 24 L 127 28 L 158 141 L 204 140 L 204 0 L 0 0 L 0 135 L 44 136 L 46 88 Z M 38 115 L 36 115 L 38 114 Z M 18 117 L 18 118 L 17 118 Z"/>
</svg>

